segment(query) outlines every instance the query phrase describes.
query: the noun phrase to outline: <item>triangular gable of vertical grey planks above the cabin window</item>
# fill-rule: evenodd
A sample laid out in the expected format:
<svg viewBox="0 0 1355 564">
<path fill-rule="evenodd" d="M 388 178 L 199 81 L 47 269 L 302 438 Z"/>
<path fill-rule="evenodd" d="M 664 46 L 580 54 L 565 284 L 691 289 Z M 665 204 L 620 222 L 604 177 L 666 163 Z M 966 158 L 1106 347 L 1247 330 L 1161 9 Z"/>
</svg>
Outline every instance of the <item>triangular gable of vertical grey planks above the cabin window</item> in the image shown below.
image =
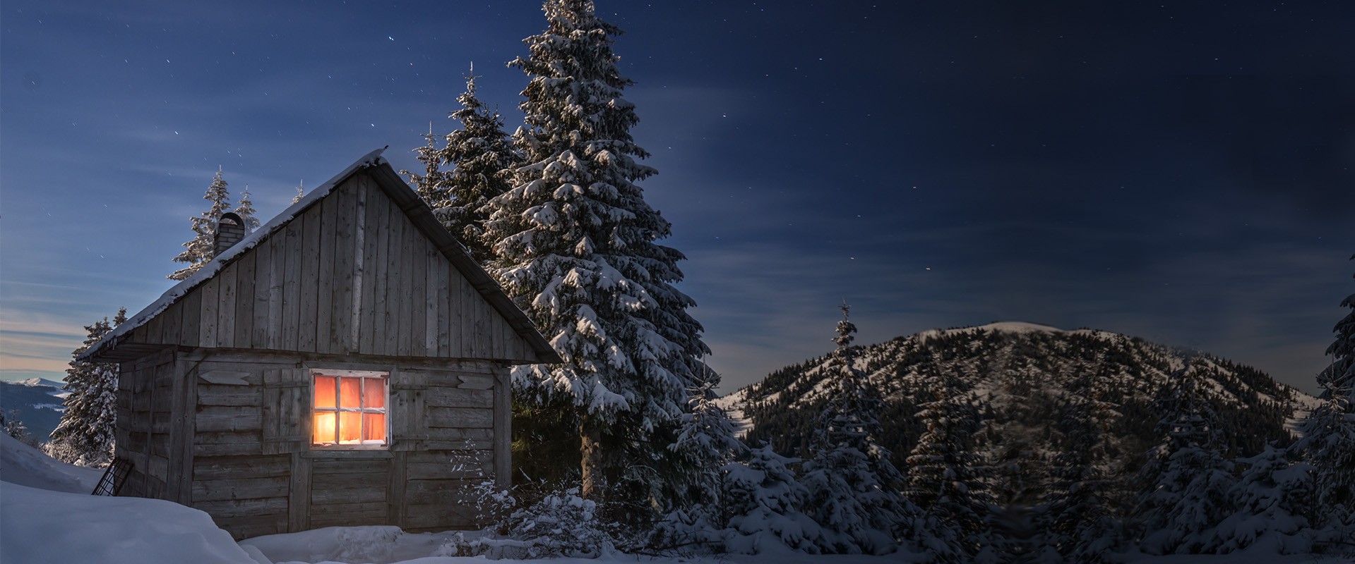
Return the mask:
<svg viewBox="0 0 1355 564">
<path fill-rule="evenodd" d="M 537 356 L 367 174 L 241 253 L 131 344 L 318 354 Z"/>
</svg>

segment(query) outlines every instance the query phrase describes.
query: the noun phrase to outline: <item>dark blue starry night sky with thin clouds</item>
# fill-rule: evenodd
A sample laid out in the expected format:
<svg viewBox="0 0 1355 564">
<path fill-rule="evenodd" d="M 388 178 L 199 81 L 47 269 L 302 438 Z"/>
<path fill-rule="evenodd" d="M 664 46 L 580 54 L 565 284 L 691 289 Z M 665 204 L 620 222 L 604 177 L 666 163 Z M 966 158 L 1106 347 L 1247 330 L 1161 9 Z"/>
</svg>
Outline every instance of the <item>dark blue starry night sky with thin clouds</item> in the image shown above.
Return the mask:
<svg viewBox="0 0 1355 564">
<path fill-rule="evenodd" d="M 1355 7 L 599 0 L 649 203 L 730 391 L 858 344 L 1027 321 L 1314 391 L 1355 291 Z M 172 285 L 221 166 L 262 220 L 446 134 L 509 131 L 535 1 L 0 7 L 0 373 Z M 1037 5 L 1038 4 L 1038 5 Z"/>
</svg>

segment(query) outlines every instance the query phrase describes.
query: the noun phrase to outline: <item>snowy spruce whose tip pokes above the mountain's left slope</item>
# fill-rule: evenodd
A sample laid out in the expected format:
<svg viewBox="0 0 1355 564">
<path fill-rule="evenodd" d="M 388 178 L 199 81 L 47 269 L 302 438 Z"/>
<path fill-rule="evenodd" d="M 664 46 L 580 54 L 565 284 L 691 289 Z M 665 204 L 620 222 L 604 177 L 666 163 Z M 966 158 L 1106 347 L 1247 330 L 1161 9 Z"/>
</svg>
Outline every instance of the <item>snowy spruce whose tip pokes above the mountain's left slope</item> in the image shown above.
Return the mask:
<svg viewBox="0 0 1355 564">
<path fill-rule="evenodd" d="M 802 483 L 809 514 L 825 529 L 824 552 L 883 555 L 898 548 L 902 530 L 921 514 L 900 494 L 904 475 L 877 442 L 879 392 L 856 368 L 851 342 L 856 326 L 841 306 L 833 367 L 824 371 L 828 404 L 814 430 L 813 457 Z"/>
</svg>

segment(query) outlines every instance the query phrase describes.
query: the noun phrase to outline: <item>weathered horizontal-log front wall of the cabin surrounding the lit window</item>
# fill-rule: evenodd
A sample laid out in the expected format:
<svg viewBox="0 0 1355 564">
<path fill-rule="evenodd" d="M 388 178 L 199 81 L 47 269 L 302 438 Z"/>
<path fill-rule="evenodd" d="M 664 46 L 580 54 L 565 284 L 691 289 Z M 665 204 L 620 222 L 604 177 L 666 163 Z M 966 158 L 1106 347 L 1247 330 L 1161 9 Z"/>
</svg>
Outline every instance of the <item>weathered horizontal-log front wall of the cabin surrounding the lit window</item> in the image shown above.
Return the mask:
<svg viewBox="0 0 1355 564">
<path fill-rule="evenodd" d="M 196 394 L 186 498 L 236 538 L 337 525 L 469 527 L 470 487 L 508 477 L 508 372 L 492 362 L 199 350 L 180 353 L 179 365 L 192 367 Z M 302 398 L 299 410 L 266 400 L 297 367 L 389 371 L 390 448 L 270 452 L 264 436 L 285 426 L 280 414 L 309 417 L 309 387 L 286 396 Z"/>
</svg>

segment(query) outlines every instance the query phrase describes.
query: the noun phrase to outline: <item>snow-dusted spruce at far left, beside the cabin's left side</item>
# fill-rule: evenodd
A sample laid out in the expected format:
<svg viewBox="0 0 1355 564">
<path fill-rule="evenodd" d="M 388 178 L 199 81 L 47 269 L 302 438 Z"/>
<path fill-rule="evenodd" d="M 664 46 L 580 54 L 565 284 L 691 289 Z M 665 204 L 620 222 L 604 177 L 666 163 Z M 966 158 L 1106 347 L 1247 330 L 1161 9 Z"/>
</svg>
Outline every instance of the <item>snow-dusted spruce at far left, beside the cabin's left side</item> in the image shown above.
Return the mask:
<svg viewBox="0 0 1355 564">
<path fill-rule="evenodd" d="M 80 356 L 125 321 L 127 321 L 126 307 L 118 310 L 112 325 L 108 323 L 108 318 L 87 325 L 88 337 L 70 356 Z M 62 402 L 65 411 L 61 414 L 61 422 L 47 442 L 47 454 L 84 467 L 107 465 L 112 454 L 118 417 L 118 365 L 72 360 L 65 380 L 62 390 L 69 395 Z"/>
</svg>

